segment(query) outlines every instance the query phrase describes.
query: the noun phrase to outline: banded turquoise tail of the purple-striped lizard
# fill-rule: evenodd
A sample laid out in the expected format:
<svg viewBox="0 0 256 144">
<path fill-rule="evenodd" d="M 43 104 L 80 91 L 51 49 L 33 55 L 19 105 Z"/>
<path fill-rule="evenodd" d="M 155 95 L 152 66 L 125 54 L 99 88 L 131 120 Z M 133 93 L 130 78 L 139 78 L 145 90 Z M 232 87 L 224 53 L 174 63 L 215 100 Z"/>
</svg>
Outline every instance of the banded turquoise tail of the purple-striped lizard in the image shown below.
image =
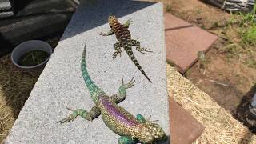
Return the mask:
<svg viewBox="0 0 256 144">
<path fill-rule="evenodd" d="M 86 45 L 82 52 L 81 70 L 82 70 L 82 77 L 86 82 L 86 86 L 90 91 L 90 95 L 93 95 L 94 92 L 98 90 L 98 86 L 96 86 L 94 82 L 90 79 L 90 76 L 86 70 Z"/>
</svg>

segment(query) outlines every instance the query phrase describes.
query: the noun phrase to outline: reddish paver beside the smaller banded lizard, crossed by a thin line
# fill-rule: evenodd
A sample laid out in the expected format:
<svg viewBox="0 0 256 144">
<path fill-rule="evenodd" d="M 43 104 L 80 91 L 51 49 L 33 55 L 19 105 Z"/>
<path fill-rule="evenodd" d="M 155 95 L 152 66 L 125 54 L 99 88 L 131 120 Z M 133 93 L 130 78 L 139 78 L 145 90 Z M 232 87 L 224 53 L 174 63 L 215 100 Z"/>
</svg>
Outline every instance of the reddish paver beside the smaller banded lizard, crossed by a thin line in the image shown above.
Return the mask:
<svg viewBox="0 0 256 144">
<path fill-rule="evenodd" d="M 218 38 L 168 13 L 165 14 L 165 29 L 166 58 L 174 62 L 182 74 L 198 60 L 198 51 L 209 50 Z"/>
</svg>

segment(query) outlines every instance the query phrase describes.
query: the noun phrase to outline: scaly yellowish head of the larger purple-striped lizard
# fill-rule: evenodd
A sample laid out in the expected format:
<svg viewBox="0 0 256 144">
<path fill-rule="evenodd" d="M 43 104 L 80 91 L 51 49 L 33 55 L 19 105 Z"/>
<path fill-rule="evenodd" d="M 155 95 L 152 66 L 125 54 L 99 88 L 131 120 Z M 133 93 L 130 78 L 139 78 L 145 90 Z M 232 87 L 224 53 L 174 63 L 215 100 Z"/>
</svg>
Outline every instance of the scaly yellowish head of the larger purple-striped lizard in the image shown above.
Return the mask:
<svg viewBox="0 0 256 144">
<path fill-rule="evenodd" d="M 140 136 L 137 137 L 140 142 L 155 143 L 166 142 L 167 136 L 162 127 L 157 123 L 149 122 L 142 123 L 142 129 Z"/>
</svg>

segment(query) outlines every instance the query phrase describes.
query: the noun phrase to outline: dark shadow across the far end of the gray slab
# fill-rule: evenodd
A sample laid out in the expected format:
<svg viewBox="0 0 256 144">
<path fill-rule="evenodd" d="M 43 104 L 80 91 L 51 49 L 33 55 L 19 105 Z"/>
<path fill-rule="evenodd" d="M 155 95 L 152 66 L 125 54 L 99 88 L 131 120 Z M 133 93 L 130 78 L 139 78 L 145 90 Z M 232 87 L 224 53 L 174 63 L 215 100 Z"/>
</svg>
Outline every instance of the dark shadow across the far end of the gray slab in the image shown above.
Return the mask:
<svg viewBox="0 0 256 144">
<path fill-rule="evenodd" d="M 65 37 L 62 37 L 62 39 L 73 37 L 87 30 L 91 30 L 94 27 L 106 24 L 109 14 L 114 14 L 117 18 L 121 18 L 127 14 L 142 10 L 147 6 L 151 6 L 154 3 L 155 2 L 140 2 L 130 0 L 120 0 L 118 2 L 116 0 L 97 0 L 95 2 L 82 1 L 80 5 L 85 5 L 86 10 L 81 10 L 82 13 L 79 14 L 84 21 L 70 22 L 69 25 L 77 25 L 77 28 L 76 30 L 66 30 Z M 113 7 L 118 7 L 118 9 Z M 84 9 L 85 7 L 80 6 L 80 8 Z M 104 10 L 105 13 L 98 13 L 98 10 Z M 86 21 L 90 21 L 90 24 L 86 23 Z M 80 25 L 82 25 L 83 29 L 81 29 Z"/>
</svg>

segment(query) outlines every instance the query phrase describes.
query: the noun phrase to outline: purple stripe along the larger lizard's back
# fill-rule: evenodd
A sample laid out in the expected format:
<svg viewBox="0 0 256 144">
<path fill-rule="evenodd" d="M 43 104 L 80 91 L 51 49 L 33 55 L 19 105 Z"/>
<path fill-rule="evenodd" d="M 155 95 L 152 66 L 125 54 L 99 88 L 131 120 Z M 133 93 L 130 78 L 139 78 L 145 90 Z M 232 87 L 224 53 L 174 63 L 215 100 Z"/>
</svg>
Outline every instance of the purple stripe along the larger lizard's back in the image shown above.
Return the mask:
<svg viewBox="0 0 256 144">
<path fill-rule="evenodd" d="M 122 114 L 120 110 L 118 110 L 112 103 L 107 100 L 106 98 L 100 98 L 102 100 L 102 104 L 105 109 L 109 112 L 109 114 L 116 118 L 119 122 L 125 123 L 128 126 L 134 126 L 138 124 L 138 122 L 134 121 L 133 119 L 129 119 L 126 117 L 125 114 Z"/>
</svg>

